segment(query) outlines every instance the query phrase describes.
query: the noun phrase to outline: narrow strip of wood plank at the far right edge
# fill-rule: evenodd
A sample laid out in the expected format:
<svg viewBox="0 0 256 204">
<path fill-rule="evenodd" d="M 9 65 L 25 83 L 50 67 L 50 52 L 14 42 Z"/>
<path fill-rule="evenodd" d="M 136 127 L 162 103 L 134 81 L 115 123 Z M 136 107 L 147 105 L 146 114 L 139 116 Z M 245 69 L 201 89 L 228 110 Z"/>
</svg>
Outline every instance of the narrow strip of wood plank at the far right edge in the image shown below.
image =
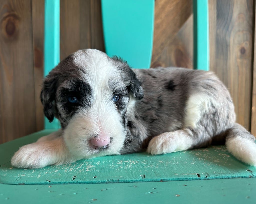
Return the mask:
<svg viewBox="0 0 256 204">
<path fill-rule="evenodd" d="M 256 10 L 254 15 L 256 14 Z M 251 133 L 256 138 L 256 15 L 254 20 L 254 58 L 253 58 L 253 85 L 252 85 L 252 116 L 251 116 Z"/>
</svg>

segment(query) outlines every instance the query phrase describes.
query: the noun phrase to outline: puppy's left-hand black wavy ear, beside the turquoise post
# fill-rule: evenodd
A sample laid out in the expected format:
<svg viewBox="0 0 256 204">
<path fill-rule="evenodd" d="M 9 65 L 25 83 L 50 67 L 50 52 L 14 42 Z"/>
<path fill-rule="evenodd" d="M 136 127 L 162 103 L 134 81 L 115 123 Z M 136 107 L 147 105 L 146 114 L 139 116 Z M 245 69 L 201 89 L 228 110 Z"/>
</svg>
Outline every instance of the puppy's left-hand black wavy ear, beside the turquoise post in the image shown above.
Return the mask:
<svg viewBox="0 0 256 204">
<path fill-rule="evenodd" d="M 56 111 L 56 85 L 57 85 L 57 77 L 53 77 L 51 73 L 46 77 L 42 92 L 41 92 L 41 101 L 44 105 L 44 113 L 50 122 L 54 119 L 54 113 Z"/>
</svg>

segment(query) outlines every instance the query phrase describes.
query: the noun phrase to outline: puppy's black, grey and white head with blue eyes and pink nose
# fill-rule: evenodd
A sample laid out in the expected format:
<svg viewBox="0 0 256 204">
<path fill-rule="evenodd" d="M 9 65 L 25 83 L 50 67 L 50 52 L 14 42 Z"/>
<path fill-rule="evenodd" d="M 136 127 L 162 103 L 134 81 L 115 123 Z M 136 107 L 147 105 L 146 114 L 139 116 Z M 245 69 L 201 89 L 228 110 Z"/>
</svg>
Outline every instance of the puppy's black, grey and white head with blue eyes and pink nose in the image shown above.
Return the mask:
<svg viewBox="0 0 256 204">
<path fill-rule="evenodd" d="M 127 62 L 86 49 L 49 73 L 41 100 L 46 117 L 60 120 L 71 153 L 82 159 L 119 154 L 126 139 L 129 101 L 143 95 Z"/>
</svg>

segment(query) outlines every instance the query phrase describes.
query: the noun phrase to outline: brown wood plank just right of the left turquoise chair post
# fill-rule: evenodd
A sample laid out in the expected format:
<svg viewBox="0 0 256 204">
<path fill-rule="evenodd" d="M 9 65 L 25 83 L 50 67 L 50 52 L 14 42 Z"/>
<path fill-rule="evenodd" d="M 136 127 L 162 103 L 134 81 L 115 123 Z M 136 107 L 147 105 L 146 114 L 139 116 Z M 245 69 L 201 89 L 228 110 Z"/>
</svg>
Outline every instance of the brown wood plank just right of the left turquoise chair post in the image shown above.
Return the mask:
<svg viewBox="0 0 256 204">
<path fill-rule="evenodd" d="M 60 1 L 60 59 L 91 47 L 91 0 Z"/>
</svg>

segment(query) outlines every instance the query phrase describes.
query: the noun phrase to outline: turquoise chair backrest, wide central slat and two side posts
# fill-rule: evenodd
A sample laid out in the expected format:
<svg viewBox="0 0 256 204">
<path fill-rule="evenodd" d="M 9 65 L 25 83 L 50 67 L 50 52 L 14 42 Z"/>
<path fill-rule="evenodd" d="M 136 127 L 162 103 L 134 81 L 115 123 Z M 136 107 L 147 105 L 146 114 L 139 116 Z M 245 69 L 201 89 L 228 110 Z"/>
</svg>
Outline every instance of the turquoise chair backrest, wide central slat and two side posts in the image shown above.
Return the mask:
<svg viewBox="0 0 256 204">
<path fill-rule="evenodd" d="M 106 53 L 134 68 L 150 68 L 154 0 L 101 0 Z M 113 12 L 115 10 L 115 12 Z M 209 70 L 208 0 L 194 0 L 194 69 Z M 60 61 L 60 1 L 45 0 L 45 76 Z M 45 118 L 45 129 L 59 128 Z"/>
</svg>

